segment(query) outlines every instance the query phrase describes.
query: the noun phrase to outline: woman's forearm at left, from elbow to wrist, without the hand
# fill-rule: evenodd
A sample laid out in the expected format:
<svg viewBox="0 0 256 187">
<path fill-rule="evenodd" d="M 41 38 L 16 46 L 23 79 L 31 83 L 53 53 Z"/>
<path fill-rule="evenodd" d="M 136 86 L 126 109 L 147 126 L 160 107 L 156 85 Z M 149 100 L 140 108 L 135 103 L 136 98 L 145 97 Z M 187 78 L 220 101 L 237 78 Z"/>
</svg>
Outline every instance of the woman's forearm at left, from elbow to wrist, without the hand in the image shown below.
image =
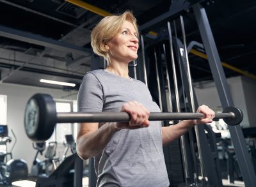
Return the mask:
<svg viewBox="0 0 256 187">
<path fill-rule="evenodd" d="M 83 125 L 83 124 L 81 124 Z M 101 153 L 116 131 L 114 123 L 106 123 L 96 131 L 88 131 L 77 137 L 77 154 L 86 160 Z"/>
</svg>

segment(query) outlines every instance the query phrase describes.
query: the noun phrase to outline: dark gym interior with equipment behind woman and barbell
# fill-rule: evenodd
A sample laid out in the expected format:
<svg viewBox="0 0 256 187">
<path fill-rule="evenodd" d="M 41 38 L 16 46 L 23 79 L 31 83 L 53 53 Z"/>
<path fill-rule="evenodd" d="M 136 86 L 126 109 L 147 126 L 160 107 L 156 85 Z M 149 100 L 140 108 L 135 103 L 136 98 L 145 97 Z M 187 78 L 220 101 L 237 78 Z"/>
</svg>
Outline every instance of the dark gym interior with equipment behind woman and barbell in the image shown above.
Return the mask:
<svg viewBox="0 0 256 187">
<path fill-rule="evenodd" d="M 106 68 L 104 60 L 93 53 L 92 29 L 103 17 L 125 10 L 132 11 L 143 36 L 143 41 L 139 37 L 138 60 L 131 62 L 130 76 L 147 82 L 162 112 L 171 112 L 172 106 L 175 107 L 170 104 L 174 102 L 173 96 L 167 96 L 168 91 L 174 90 L 175 80 L 170 78 L 170 87 L 166 83 L 168 63 L 172 61 L 168 54 L 171 39 L 177 61 L 182 62 L 188 54 L 196 105 L 206 103 L 215 112 L 222 112 L 231 101 L 243 110 L 243 121 L 236 126 L 216 121 L 215 126 L 199 130 L 209 144 L 201 145 L 202 159 L 209 186 L 253 186 L 256 180 L 253 107 L 256 104 L 256 1 L 252 0 L 0 0 L 0 186 L 60 183 L 80 187 L 82 178 L 83 186 L 95 186 L 92 160 L 82 161 L 76 154 L 77 123 L 57 125 L 54 135 L 44 144 L 33 143 L 24 130 L 24 110 L 33 94 L 48 93 L 59 103 L 57 112 L 76 112 L 77 92 L 84 74 Z M 204 26 L 207 26 L 205 30 Z M 211 34 L 207 35 L 211 32 L 212 38 Z M 186 89 L 189 81 L 183 80 L 186 67 L 176 64 L 180 68 L 177 74 L 180 99 L 184 99 L 180 102 L 181 109 L 192 112 Z M 222 69 L 214 69 L 215 66 Z M 156 73 L 156 67 L 163 71 Z M 47 84 L 40 82 L 41 79 L 76 85 Z M 163 125 L 169 124 L 164 121 Z M 196 136 L 190 132 L 184 143 L 191 144 L 191 137 L 196 142 Z M 180 144 L 182 140 L 177 140 L 164 147 L 170 186 L 186 186 Z M 193 176 L 197 170 L 200 183 L 200 177 L 204 176 L 200 172 L 202 163 L 198 148 L 194 148 L 187 150 L 195 152 L 195 158 L 188 156 L 189 175 Z M 15 173 L 17 165 L 20 172 Z M 8 172 L 12 177 L 5 176 Z M 31 183 L 12 184 L 20 179 Z"/>
</svg>

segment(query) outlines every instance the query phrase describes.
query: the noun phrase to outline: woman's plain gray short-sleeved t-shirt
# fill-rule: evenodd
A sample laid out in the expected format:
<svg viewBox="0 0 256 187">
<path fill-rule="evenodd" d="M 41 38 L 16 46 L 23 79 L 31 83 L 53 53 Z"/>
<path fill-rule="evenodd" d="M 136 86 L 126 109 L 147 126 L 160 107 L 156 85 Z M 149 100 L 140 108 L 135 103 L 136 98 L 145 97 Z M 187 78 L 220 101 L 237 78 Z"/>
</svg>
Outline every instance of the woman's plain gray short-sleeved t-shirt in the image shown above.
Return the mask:
<svg viewBox="0 0 256 187">
<path fill-rule="evenodd" d="M 160 112 L 143 82 L 106 70 L 86 73 L 77 96 L 79 112 L 120 112 L 124 103 L 134 100 L 150 112 Z M 150 121 L 148 128 L 116 131 L 95 156 L 95 171 L 97 186 L 169 186 L 161 123 Z"/>
</svg>

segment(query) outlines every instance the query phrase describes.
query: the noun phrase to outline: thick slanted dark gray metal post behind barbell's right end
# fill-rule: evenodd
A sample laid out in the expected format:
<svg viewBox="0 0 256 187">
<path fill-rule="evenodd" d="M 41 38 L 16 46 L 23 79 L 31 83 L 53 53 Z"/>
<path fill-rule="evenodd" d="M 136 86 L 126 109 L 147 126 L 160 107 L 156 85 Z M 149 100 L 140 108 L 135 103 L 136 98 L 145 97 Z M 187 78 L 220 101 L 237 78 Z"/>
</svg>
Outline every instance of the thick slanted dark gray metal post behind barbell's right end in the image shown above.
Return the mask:
<svg viewBox="0 0 256 187">
<path fill-rule="evenodd" d="M 234 106 L 232 97 L 228 90 L 227 80 L 224 74 L 223 67 L 221 66 L 220 56 L 212 35 L 209 20 L 207 18 L 205 9 L 200 5 L 196 4 L 193 6 L 193 10 L 196 17 L 196 22 L 199 27 L 202 41 L 204 43 L 205 52 L 209 59 L 209 65 L 212 71 L 212 76 L 218 94 L 220 96 L 221 105 L 223 108 L 228 106 Z M 241 126 L 228 126 L 230 136 L 234 144 L 234 149 L 237 156 L 237 161 L 243 176 L 244 184 L 247 187 L 253 187 L 256 184 L 255 171 L 253 169 L 252 161 L 250 159 L 248 149 L 246 148 L 246 142 L 244 140 Z"/>
</svg>

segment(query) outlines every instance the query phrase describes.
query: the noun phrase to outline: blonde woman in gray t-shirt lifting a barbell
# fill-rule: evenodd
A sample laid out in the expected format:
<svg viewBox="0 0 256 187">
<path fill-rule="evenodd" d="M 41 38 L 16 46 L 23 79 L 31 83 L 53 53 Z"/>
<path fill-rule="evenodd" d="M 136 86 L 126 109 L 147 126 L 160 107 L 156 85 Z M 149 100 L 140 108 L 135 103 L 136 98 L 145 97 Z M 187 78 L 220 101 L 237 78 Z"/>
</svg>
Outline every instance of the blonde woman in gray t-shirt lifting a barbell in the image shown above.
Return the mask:
<svg viewBox="0 0 256 187">
<path fill-rule="evenodd" d="M 136 59 L 138 27 L 130 11 L 102 19 L 93 29 L 95 54 L 108 61 L 106 70 L 84 75 L 77 97 L 80 112 L 127 112 L 129 123 L 82 123 L 77 133 L 77 153 L 95 158 L 97 186 L 169 186 L 163 144 L 199 123 L 211 123 L 214 112 L 205 105 L 197 112 L 205 119 L 162 127 L 148 121 L 150 112 L 161 112 L 147 86 L 128 75 Z"/>
</svg>

